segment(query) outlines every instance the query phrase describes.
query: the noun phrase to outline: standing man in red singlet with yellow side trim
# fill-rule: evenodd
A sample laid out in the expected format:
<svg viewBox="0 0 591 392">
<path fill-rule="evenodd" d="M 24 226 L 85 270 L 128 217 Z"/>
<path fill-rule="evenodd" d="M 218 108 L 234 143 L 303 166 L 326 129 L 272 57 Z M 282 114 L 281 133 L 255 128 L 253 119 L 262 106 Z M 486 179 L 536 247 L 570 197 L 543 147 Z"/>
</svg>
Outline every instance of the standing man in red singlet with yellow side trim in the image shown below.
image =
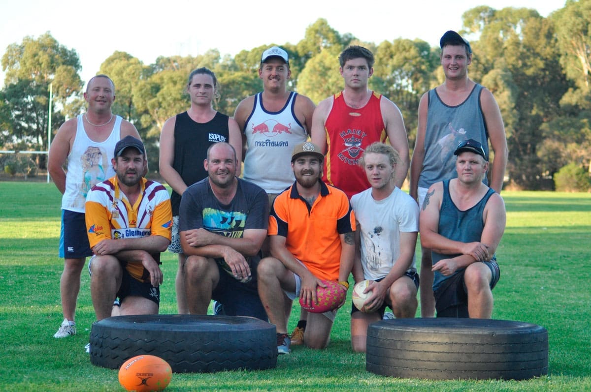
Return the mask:
<svg viewBox="0 0 591 392">
<path fill-rule="evenodd" d="M 408 138 L 398 107 L 381 94 L 368 89 L 374 73 L 374 55 L 353 45 L 339 56 L 345 89 L 319 103 L 312 118 L 312 142 L 326 153 L 324 177 L 330 185 L 352 195 L 369 188 L 359 166 L 365 148 L 386 139 L 400 155 L 394 176 L 397 187 L 408 172 Z"/>
</svg>

